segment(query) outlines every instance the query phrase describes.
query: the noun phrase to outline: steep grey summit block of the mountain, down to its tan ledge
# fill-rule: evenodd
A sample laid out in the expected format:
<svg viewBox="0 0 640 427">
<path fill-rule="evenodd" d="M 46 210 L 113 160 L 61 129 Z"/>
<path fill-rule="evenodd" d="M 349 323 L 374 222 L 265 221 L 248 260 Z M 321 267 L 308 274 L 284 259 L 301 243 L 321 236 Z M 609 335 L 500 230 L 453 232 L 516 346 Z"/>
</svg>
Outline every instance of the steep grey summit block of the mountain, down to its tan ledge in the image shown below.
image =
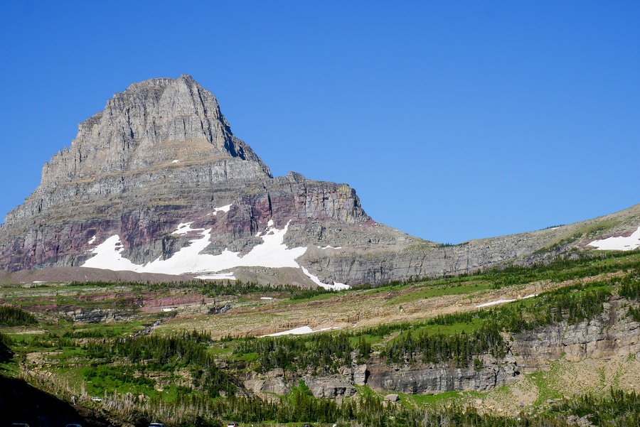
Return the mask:
<svg viewBox="0 0 640 427">
<path fill-rule="evenodd" d="M 73 161 L 72 161 L 73 156 Z M 231 132 L 218 100 L 189 75 L 155 78 L 114 94 L 102 112 L 78 126 L 68 153 L 51 159 L 43 172 L 65 163 L 67 178 L 127 173 L 173 161 L 238 158 L 269 168 Z M 176 162 L 177 163 L 177 162 Z M 58 180 L 59 176 L 52 177 Z"/>
</svg>

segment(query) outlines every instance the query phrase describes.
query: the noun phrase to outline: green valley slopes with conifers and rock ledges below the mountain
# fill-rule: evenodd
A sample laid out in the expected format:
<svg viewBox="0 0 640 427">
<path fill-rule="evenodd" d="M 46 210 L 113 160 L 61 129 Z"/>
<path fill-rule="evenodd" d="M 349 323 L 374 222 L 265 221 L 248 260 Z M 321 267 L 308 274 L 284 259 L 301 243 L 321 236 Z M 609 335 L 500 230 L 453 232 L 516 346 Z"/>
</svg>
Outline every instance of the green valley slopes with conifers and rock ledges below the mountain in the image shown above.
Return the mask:
<svg viewBox="0 0 640 427">
<path fill-rule="evenodd" d="M 640 384 L 637 251 L 337 292 L 44 282 L 0 295 L 33 315 L 1 326 L 13 352 L 2 372 L 75 402 L 95 425 L 361 426 L 375 413 L 386 420 L 376 425 L 402 426 L 393 417 L 452 409 L 572 425 L 570 411 L 552 416 L 559 406 L 632 397 Z"/>
</svg>

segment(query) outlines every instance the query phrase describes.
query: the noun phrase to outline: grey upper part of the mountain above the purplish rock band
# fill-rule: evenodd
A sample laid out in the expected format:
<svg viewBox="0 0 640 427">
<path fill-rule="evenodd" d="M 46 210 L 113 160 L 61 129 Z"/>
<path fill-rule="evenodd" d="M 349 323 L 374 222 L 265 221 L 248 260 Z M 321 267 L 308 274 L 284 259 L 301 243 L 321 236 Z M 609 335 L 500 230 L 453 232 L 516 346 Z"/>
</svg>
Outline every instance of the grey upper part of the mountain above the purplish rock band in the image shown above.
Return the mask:
<svg viewBox="0 0 640 427">
<path fill-rule="evenodd" d="M 80 123 L 70 148 L 45 163 L 41 185 L 5 223 L 43 214 L 63 219 L 73 207 L 94 215 L 127 198 L 183 205 L 199 197 L 193 188 L 270 178 L 211 92 L 189 75 L 153 78 L 117 92 Z"/>
</svg>

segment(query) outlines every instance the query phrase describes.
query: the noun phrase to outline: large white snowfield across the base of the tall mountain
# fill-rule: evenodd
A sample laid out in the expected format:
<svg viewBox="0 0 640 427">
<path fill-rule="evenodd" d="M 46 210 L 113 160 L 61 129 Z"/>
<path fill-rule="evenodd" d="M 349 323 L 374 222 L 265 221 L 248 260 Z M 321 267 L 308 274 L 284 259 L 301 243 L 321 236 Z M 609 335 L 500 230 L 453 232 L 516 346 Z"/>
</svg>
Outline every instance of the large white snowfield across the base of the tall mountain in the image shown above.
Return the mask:
<svg viewBox="0 0 640 427">
<path fill-rule="evenodd" d="M 228 212 L 231 205 L 218 207 L 218 212 Z M 214 214 L 214 215 L 215 215 Z M 306 252 L 306 247 L 295 247 L 288 249 L 284 244 L 284 234 L 287 234 L 289 223 L 284 229 L 274 227 L 273 220 L 267 225 L 265 232 L 258 233 L 257 237 L 262 238 L 262 244 L 258 244 L 248 254 L 241 256 L 239 252 L 231 252 L 225 249 L 222 254 L 211 255 L 202 254 L 203 249 L 209 246 L 211 229 L 193 229 L 193 222 L 185 222 L 176 228 L 174 234 L 187 234 L 198 232 L 200 238 L 191 240 L 188 247 L 183 247 L 169 259 L 158 257 L 154 261 L 146 264 L 134 264 L 129 259 L 122 256 L 124 247 L 120 237 L 115 234 L 97 245 L 91 250 L 94 256 L 87 259 L 83 267 L 93 267 L 95 269 L 109 269 L 115 271 L 137 271 L 138 273 L 163 273 L 163 274 L 198 274 L 198 279 L 230 279 L 235 280 L 233 272 L 239 266 L 262 266 L 267 268 L 292 267 L 302 269 L 304 274 L 314 281 L 318 286 L 325 289 L 347 289 L 348 285 L 343 283 L 322 283 L 320 279 L 308 270 L 300 266 L 296 259 Z M 95 241 L 91 239 L 90 243 Z"/>
</svg>

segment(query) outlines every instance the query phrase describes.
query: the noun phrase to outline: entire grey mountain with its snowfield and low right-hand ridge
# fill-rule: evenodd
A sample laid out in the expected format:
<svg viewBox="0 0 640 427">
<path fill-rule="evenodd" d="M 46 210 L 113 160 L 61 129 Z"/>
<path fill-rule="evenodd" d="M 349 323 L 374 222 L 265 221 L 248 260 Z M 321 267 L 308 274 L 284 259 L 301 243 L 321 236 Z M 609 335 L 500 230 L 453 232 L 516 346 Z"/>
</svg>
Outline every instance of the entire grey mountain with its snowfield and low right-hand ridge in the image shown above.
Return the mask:
<svg viewBox="0 0 640 427">
<path fill-rule="evenodd" d="M 528 264 L 639 225 L 635 206 L 459 245 L 418 239 L 375 222 L 347 184 L 272 176 L 213 94 L 182 75 L 134 83 L 78 126 L 6 216 L 0 269 L 340 288 Z"/>
</svg>

